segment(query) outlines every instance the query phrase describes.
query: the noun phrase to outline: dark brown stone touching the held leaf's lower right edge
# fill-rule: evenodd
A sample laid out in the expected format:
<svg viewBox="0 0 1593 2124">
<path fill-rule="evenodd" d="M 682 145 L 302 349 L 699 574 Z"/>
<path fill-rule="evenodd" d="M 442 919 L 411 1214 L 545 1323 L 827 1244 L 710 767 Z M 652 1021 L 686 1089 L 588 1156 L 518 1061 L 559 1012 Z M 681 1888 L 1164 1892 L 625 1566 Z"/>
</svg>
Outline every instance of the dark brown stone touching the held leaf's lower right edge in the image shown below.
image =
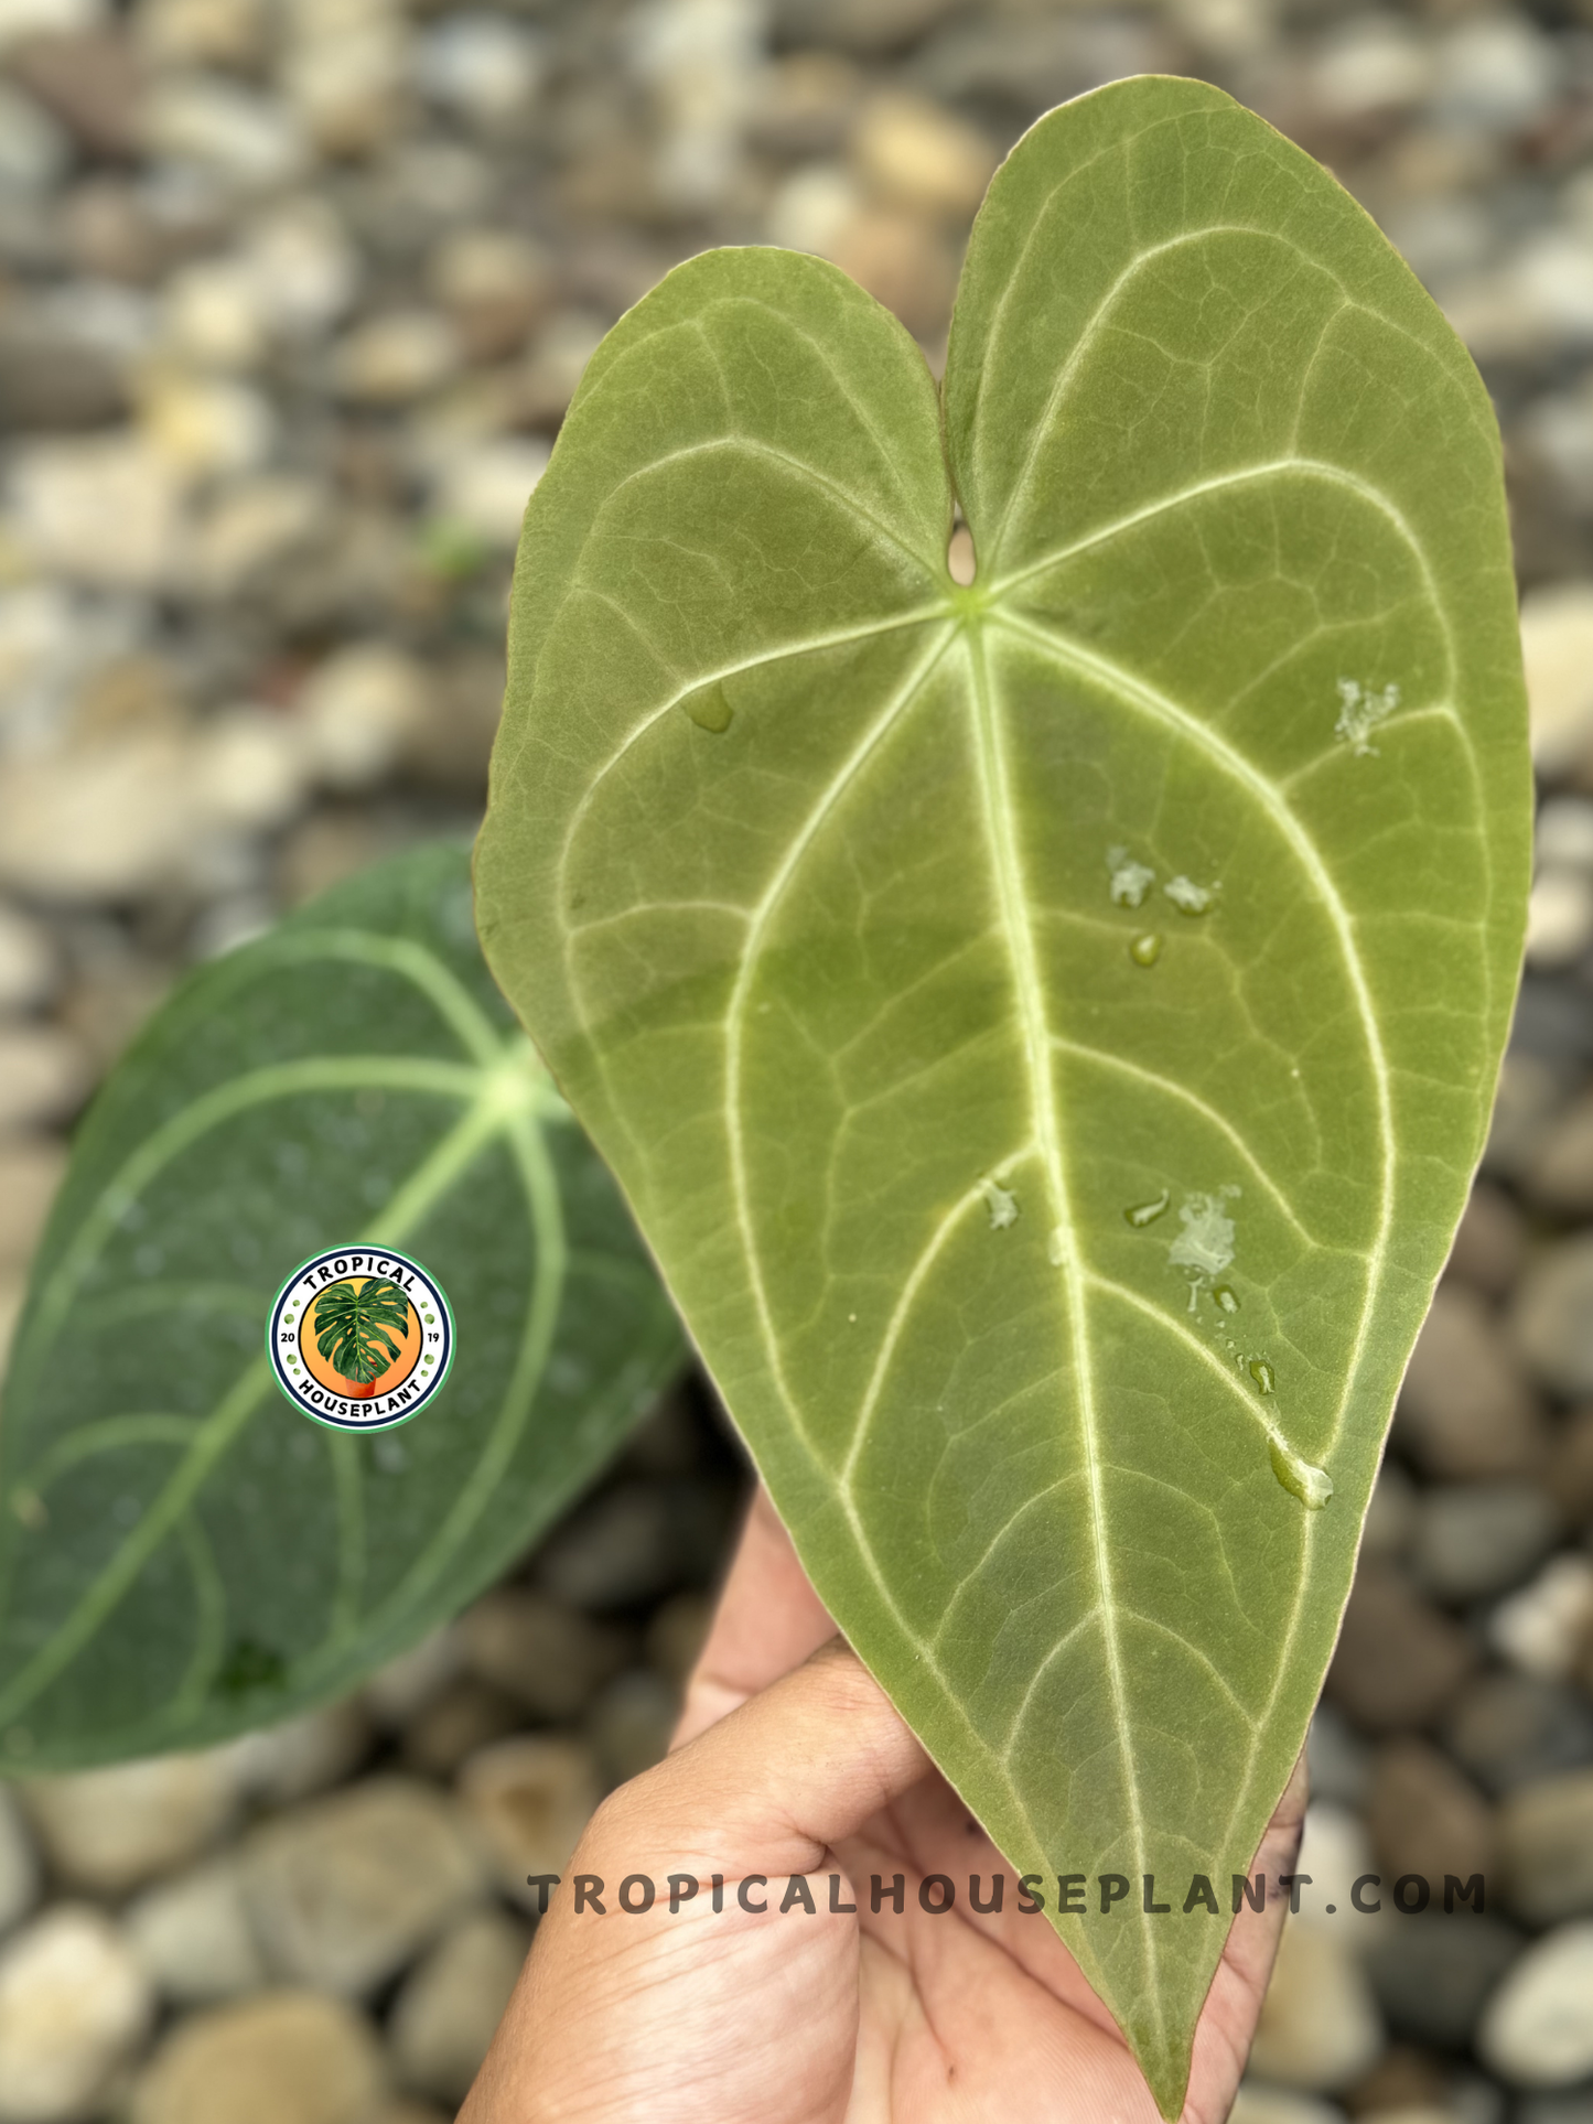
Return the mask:
<svg viewBox="0 0 1593 2124">
<path fill-rule="evenodd" d="M 1391 1565 L 1368 1559 L 1344 1610 L 1328 1697 L 1364 1733 L 1425 1727 L 1476 1663 L 1476 1646 Z"/>
</svg>

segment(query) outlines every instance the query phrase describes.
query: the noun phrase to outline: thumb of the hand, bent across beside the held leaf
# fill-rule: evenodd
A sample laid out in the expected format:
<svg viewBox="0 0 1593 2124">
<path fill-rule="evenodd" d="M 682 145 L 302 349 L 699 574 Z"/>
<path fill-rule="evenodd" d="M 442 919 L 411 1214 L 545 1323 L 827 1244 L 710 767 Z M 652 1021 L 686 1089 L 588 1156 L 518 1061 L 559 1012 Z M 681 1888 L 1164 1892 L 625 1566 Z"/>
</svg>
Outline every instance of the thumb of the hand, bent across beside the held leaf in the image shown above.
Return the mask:
<svg viewBox="0 0 1593 2124">
<path fill-rule="evenodd" d="M 599 1854 L 641 1869 L 667 1858 L 726 1880 L 807 1873 L 928 1767 L 884 1689 L 837 1638 L 620 1786 L 582 1854 L 599 1873 Z M 641 1852 L 648 1858 L 631 1856 Z"/>
</svg>

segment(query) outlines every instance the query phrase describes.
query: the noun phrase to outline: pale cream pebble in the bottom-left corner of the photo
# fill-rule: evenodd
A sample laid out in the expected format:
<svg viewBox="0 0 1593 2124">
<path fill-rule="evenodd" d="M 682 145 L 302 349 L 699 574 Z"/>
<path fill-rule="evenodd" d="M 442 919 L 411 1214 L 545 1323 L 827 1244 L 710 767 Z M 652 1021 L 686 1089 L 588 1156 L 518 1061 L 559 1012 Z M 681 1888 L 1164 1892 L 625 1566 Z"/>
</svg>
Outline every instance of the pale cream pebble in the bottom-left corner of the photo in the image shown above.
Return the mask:
<svg viewBox="0 0 1593 2124">
<path fill-rule="evenodd" d="M 149 1980 L 110 1918 L 51 1905 L 0 1943 L 0 2118 L 98 2113 L 151 2016 Z"/>
</svg>

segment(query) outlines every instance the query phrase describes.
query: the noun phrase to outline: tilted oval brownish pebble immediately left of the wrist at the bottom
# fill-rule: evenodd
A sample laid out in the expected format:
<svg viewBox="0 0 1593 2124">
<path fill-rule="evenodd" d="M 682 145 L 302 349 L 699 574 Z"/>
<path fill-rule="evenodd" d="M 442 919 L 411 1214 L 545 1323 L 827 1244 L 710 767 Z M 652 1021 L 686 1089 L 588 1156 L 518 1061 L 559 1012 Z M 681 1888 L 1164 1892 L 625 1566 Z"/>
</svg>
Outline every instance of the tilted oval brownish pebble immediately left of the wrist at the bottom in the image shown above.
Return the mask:
<svg viewBox="0 0 1593 2124">
<path fill-rule="evenodd" d="M 510 2003 L 531 1929 L 482 1909 L 446 1933 L 404 1980 L 389 2043 L 408 2086 L 461 2103 Z"/>
</svg>

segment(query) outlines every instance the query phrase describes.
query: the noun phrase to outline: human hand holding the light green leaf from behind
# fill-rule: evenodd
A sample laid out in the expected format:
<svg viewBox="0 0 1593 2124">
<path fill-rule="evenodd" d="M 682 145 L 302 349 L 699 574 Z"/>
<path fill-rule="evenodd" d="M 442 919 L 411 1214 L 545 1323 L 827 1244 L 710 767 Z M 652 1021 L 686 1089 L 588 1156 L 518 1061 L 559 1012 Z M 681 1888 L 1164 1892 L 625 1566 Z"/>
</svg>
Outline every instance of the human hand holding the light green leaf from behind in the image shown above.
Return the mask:
<svg viewBox="0 0 1593 2124">
<path fill-rule="evenodd" d="M 1302 1818 L 1304 1763 L 1255 1858 L 1268 1880 L 1289 1871 Z M 971 1871 L 983 1899 L 1005 1878 L 998 1914 L 969 1909 Z M 603 1878 L 607 1916 L 576 1912 L 576 1873 Z M 616 1907 L 631 1873 L 658 1884 L 637 1916 Z M 671 1873 L 701 1882 L 673 1914 Z M 833 1873 L 856 1916 L 830 1909 Z M 869 1909 L 873 1873 L 905 1875 L 903 1916 L 888 1892 Z M 958 1884 L 945 1916 L 918 1903 L 930 1873 Z M 739 1903 L 741 1882 L 765 1912 Z M 1272 1899 L 1234 1920 L 1183 2124 L 1228 2118 L 1281 1926 Z M 1158 2124 L 1117 2024 L 1051 1924 L 1020 1916 L 1015 1878 L 835 1638 L 763 1491 L 671 1754 L 593 1816 L 459 2124 L 644 2118 Z"/>
</svg>

